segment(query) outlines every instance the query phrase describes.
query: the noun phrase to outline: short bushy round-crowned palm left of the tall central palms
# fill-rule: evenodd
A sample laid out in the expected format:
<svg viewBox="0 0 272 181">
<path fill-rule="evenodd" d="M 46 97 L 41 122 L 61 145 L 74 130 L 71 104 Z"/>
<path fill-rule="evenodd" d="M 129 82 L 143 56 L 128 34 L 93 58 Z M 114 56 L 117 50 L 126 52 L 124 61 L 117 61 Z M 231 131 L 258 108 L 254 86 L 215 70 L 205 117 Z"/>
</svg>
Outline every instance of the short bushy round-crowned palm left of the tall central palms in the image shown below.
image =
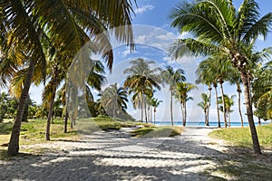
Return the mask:
<svg viewBox="0 0 272 181">
<path fill-rule="evenodd" d="M 118 87 L 117 83 L 114 83 L 102 91 L 102 106 L 108 115 L 112 115 L 115 118 L 118 112 L 127 109 L 126 102 L 129 101 L 127 97 L 127 91 L 123 87 Z"/>
</svg>

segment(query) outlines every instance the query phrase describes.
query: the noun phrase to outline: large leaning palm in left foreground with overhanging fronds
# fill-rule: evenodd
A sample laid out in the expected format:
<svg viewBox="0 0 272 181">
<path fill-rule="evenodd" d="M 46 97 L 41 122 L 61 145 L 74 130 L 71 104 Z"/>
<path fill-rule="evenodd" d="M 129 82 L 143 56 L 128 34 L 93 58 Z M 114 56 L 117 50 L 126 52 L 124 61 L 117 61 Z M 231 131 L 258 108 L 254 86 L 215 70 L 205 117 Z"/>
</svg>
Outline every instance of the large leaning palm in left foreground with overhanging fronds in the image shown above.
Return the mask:
<svg viewBox="0 0 272 181">
<path fill-rule="evenodd" d="M 103 52 L 105 50 L 103 47 L 110 46 L 109 39 L 107 35 L 95 39 L 95 34 L 121 26 L 122 31 L 115 31 L 114 35 L 119 41 L 133 47 L 131 26 L 122 26 L 131 25 L 131 1 L 114 0 L 111 3 L 113 5 L 108 5 L 109 2 L 106 0 L 84 3 L 79 1 L 1 1 L 1 36 L 3 37 L 4 33 L 11 33 L 13 37 L 5 49 L 12 48 L 24 52 L 27 55 L 25 62 L 28 67 L 7 151 L 8 155 L 18 154 L 21 120 L 34 75 L 34 67 L 37 62 L 45 62 L 41 41 L 42 32 L 50 33 L 50 41 L 65 55 L 66 59 L 70 60 L 73 60 L 74 55 L 84 43 L 91 40 L 84 30 L 90 33 L 92 41 L 100 46 L 100 52 Z M 112 65 L 112 51 L 108 50 L 103 52 L 104 57 L 108 64 Z"/>
</svg>

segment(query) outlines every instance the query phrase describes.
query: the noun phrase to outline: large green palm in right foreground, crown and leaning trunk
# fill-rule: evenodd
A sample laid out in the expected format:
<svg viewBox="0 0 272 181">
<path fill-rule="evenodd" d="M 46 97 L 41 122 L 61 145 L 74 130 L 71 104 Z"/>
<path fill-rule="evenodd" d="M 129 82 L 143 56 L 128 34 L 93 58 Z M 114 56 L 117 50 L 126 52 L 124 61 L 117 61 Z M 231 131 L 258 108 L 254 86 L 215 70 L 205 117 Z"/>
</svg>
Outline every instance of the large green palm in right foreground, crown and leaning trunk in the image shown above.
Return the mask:
<svg viewBox="0 0 272 181">
<path fill-rule="evenodd" d="M 195 38 L 178 40 L 171 52 L 180 57 L 184 54 L 211 55 L 217 52 L 228 55 L 238 68 L 243 82 L 248 123 L 254 153 L 261 154 L 253 119 L 248 88 L 248 56 L 245 47 L 254 44 L 259 35 L 266 37 L 272 23 L 272 13 L 259 18 L 258 5 L 254 0 L 244 0 L 238 10 L 227 0 L 200 0 L 184 2 L 170 13 L 171 26 L 180 33 L 189 32 Z M 187 51 L 184 47 L 187 47 Z M 189 49 L 189 51 L 188 51 Z"/>
</svg>

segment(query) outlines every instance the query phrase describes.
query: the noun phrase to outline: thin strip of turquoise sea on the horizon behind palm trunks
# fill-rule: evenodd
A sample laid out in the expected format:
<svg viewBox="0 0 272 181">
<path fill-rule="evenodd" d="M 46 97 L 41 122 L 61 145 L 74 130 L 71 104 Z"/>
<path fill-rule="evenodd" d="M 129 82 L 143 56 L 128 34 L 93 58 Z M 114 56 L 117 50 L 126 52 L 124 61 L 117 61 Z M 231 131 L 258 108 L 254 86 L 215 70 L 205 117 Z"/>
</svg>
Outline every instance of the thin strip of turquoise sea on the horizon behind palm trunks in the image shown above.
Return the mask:
<svg viewBox="0 0 272 181">
<path fill-rule="evenodd" d="M 265 124 L 270 124 L 271 121 L 262 121 L 261 125 L 265 125 Z M 156 121 L 156 125 L 157 126 L 167 126 L 167 125 L 171 125 L 170 121 Z M 181 121 L 174 121 L 174 125 L 178 125 L 181 126 L 182 122 Z M 225 124 L 224 122 L 220 123 L 221 127 L 224 127 Z M 255 125 L 257 125 L 257 122 L 255 123 Z M 189 127 L 205 127 L 205 122 L 187 122 L 186 126 Z M 209 127 L 218 127 L 219 123 L 218 122 L 209 122 Z M 230 123 L 230 127 L 241 127 L 241 123 L 240 122 L 231 122 Z M 244 122 L 244 127 L 248 127 L 248 122 Z"/>
</svg>

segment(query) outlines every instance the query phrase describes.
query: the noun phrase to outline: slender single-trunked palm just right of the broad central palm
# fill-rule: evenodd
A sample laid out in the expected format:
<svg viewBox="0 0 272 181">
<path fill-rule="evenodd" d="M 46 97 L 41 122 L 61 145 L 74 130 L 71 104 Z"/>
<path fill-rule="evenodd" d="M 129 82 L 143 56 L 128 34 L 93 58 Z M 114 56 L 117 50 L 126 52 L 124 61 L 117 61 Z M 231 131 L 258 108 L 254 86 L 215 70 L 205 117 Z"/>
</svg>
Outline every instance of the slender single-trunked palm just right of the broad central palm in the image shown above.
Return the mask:
<svg viewBox="0 0 272 181">
<path fill-rule="evenodd" d="M 177 83 L 180 81 L 186 81 L 185 72 L 182 69 L 173 70 L 168 66 L 165 71 L 161 72 L 162 80 L 170 86 L 170 119 L 171 125 L 174 125 L 173 121 L 173 91 L 177 87 Z"/>
</svg>

